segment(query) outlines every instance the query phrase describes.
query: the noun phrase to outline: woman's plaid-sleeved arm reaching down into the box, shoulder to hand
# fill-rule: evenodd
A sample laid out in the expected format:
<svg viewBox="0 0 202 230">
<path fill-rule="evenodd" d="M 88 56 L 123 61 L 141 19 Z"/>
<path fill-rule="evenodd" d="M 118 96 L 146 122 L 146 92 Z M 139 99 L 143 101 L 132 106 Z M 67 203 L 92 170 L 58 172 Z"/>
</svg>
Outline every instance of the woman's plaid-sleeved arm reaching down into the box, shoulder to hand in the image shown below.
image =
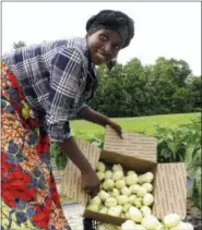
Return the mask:
<svg viewBox="0 0 202 230">
<path fill-rule="evenodd" d="M 72 137 L 69 124 L 82 70 L 81 50 L 74 47 L 64 48 L 55 56 L 51 64 L 46 130 L 50 140 L 57 142 L 61 152 L 80 169 L 85 191 L 95 196 L 100 182 Z"/>
</svg>

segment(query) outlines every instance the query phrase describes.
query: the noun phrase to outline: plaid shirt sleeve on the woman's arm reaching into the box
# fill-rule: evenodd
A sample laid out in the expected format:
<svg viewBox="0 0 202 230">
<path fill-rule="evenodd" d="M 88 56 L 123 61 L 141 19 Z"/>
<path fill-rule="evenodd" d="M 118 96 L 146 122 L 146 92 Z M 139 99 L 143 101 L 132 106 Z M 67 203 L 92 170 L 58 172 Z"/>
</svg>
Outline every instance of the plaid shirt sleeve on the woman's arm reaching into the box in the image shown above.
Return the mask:
<svg viewBox="0 0 202 230">
<path fill-rule="evenodd" d="M 51 141 L 63 142 L 72 135 L 69 118 L 81 71 L 82 53 L 79 48 L 64 48 L 52 59 L 49 109 L 46 114 L 47 132 Z"/>
</svg>

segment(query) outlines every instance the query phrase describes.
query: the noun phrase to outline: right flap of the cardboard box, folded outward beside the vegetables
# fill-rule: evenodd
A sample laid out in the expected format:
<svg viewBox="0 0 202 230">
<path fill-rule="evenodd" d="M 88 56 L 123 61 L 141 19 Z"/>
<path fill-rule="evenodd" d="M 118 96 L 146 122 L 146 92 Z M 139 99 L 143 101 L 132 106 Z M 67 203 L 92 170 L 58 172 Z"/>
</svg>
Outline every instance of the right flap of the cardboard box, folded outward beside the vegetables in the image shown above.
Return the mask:
<svg viewBox="0 0 202 230">
<path fill-rule="evenodd" d="M 167 214 L 186 217 L 187 172 L 185 164 L 157 164 L 154 181 L 153 214 L 163 218 Z"/>
</svg>

